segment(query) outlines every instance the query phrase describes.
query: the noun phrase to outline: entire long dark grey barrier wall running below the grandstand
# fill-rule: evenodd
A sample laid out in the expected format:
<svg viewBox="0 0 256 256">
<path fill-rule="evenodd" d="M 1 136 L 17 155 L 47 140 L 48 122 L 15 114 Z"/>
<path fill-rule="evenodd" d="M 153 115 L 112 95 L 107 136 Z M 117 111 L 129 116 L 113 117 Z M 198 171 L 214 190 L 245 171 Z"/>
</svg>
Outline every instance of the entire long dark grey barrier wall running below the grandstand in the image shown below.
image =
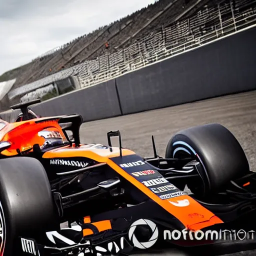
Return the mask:
<svg viewBox="0 0 256 256">
<path fill-rule="evenodd" d="M 108 118 L 256 89 L 256 27 L 31 108 L 42 116 Z M 19 111 L 0 116 L 13 121 Z"/>
</svg>

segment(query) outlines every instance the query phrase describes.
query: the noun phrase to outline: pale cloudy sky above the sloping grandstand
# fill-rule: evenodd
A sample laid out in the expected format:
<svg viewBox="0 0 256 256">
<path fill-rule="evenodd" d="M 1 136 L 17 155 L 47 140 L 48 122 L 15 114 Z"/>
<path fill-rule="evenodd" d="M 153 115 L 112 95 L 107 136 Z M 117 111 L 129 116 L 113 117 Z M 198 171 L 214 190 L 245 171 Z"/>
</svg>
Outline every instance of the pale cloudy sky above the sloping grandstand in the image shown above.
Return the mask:
<svg viewBox="0 0 256 256">
<path fill-rule="evenodd" d="M 0 0 L 0 74 L 155 0 Z"/>
</svg>

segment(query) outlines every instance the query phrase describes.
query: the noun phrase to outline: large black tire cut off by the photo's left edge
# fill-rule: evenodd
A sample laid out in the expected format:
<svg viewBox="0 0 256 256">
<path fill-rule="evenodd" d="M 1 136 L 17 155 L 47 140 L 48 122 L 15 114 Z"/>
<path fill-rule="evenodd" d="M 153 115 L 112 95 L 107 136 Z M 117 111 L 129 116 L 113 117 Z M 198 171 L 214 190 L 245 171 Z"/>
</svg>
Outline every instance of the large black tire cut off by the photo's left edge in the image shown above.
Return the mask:
<svg viewBox="0 0 256 256">
<path fill-rule="evenodd" d="M 54 228 L 55 216 L 50 184 L 41 163 L 30 157 L 1 159 L 0 255 L 20 253 L 18 236 L 34 238 L 45 234 Z"/>
</svg>

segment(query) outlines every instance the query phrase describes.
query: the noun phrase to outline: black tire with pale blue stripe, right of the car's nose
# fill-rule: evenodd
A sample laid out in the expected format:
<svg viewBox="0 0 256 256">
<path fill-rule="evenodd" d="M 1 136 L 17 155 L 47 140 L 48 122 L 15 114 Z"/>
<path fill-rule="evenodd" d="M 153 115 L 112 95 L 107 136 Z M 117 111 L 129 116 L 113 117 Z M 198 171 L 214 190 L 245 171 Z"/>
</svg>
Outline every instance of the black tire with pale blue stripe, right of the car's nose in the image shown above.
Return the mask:
<svg viewBox="0 0 256 256">
<path fill-rule="evenodd" d="M 168 142 L 166 157 L 192 157 L 200 162 L 200 178 L 188 188 L 200 195 L 219 191 L 231 179 L 249 172 L 245 153 L 224 126 L 217 123 L 194 126 L 177 132 Z"/>
</svg>

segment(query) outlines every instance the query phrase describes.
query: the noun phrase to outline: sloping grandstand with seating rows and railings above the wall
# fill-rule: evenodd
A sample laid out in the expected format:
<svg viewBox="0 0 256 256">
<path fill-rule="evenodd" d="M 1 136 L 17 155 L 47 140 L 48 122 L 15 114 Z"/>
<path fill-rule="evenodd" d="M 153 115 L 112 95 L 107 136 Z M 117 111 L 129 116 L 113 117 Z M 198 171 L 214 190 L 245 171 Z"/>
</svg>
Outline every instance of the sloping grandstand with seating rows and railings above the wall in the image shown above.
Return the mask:
<svg viewBox="0 0 256 256">
<path fill-rule="evenodd" d="M 37 97 L 70 76 L 94 85 L 252 25 L 255 12 L 256 0 L 159 0 L 4 73 L 16 78 L 9 99 Z"/>
</svg>

